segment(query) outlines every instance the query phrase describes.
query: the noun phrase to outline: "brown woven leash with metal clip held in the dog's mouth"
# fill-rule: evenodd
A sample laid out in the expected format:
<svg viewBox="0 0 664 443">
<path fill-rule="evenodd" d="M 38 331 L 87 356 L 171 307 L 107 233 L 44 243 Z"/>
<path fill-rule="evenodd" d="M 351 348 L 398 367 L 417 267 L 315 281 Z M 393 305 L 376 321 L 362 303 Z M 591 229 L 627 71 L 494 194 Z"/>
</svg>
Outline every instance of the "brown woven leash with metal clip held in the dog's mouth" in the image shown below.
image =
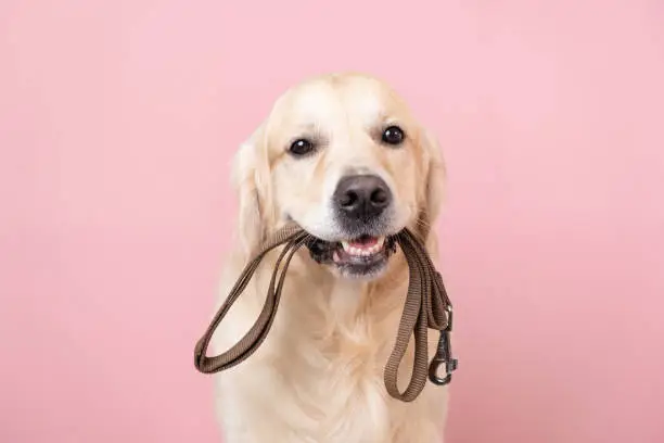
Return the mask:
<svg viewBox="0 0 664 443">
<path fill-rule="evenodd" d="M 451 372 L 457 369 L 457 360 L 452 358 L 449 340 L 452 327 L 452 306 L 443 286 L 440 274 L 433 265 L 424 245 L 408 229 L 401 230 L 395 237 L 408 263 L 409 282 L 394 350 L 385 365 L 384 380 L 390 395 L 404 402 L 411 402 L 424 389 L 427 376 L 433 383 L 443 385 L 451 381 Z M 260 253 L 245 266 L 228 299 L 196 343 L 194 351 L 196 369 L 204 374 L 229 369 L 250 357 L 260 346 L 277 315 L 281 290 L 291 258 L 309 239 L 311 239 L 311 236 L 302 228 L 289 225 L 279 230 L 265 244 Z M 268 252 L 282 244 L 285 244 L 285 246 L 274 265 L 265 305 L 254 326 L 230 350 L 213 357 L 206 356 L 213 333 L 246 288 L 260 261 Z M 431 364 L 427 356 L 429 328 L 440 332 L 438 347 Z M 406 391 L 401 393 L 397 388 L 397 372 L 406 354 L 410 334 L 414 334 L 414 363 L 410 382 Z M 444 377 L 439 377 L 437 374 L 440 366 L 445 367 Z"/>
</svg>

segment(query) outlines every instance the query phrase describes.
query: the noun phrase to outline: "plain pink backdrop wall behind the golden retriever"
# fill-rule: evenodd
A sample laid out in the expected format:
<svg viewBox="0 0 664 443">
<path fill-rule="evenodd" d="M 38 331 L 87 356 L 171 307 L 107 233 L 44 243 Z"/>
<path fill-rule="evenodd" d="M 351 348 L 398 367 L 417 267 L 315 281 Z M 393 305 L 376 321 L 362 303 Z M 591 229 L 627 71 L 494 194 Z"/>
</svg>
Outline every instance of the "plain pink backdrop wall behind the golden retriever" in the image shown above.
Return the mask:
<svg viewBox="0 0 664 443">
<path fill-rule="evenodd" d="M 664 442 L 661 0 L 318 3 L 0 3 L 0 441 L 216 441 L 228 160 L 350 68 L 445 147 L 448 442 Z"/>
</svg>

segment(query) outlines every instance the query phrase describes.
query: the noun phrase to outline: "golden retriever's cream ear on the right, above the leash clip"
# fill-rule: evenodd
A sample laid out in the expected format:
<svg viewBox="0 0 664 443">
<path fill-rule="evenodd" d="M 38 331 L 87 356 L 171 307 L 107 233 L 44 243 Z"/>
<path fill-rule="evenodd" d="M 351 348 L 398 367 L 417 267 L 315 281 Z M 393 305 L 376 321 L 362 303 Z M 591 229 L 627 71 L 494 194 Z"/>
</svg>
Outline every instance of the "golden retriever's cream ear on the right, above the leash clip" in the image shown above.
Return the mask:
<svg viewBox="0 0 664 443">
<path fill-rule="evenodd" d="M 445 200 L 447 170 L 440 143 L 435 135 L 427 129 L 422 129 L 421 142 L 425 162 L 424 176 L 426 177 L 423 195 L 423 223 L 432 226 L 438 218 Z"/>
</svg>

